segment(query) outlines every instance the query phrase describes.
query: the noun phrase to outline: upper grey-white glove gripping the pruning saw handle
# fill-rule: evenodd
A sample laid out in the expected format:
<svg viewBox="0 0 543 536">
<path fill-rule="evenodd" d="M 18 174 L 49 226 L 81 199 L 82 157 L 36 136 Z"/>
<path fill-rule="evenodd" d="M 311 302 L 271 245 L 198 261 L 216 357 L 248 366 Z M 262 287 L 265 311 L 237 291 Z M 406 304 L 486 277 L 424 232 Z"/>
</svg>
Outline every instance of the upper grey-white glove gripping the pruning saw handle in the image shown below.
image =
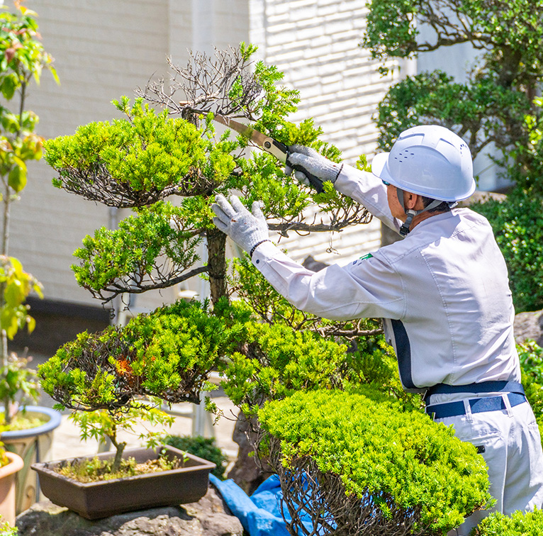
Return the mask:
<svg viewBox="0 0 543 536">
<path fill-rule="evenodd" d="M 290 175 L 294 172 L 294 177 L 299 182 L 306 186 L 313 186 L 320 194 L 325 181 L 335 183 L 342 167 L 343 164 L 328 160 L 315 149 L 303 145 L 291 145 L 289 157 L 286 159 L 285 174 Z"/>
</svg>

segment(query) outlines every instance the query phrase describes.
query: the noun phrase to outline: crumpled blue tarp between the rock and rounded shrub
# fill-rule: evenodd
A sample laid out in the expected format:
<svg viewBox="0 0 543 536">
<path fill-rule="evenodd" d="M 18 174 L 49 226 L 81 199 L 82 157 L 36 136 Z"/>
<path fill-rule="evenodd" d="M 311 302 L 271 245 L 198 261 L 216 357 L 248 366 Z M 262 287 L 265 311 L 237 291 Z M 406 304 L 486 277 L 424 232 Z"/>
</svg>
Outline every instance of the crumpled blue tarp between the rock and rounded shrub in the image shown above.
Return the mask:
<svg viewBox="0 0 543 536">
<path fill-rule="evenodd" d="M 283 501 L 283 493 L 277 475 L 270 476 L 262 482 L 252 496 L 247 496 L 247 493 L 231 479 L 222 481 L 210 474 L 209 480 L 250 536 L 289 536 L 281 515 L 280 503 Z M 284 509 L 287 515 L 286 506 Z M 311 528 L 311 525 L 308 525 L 308 529 Z"/>
</svg>

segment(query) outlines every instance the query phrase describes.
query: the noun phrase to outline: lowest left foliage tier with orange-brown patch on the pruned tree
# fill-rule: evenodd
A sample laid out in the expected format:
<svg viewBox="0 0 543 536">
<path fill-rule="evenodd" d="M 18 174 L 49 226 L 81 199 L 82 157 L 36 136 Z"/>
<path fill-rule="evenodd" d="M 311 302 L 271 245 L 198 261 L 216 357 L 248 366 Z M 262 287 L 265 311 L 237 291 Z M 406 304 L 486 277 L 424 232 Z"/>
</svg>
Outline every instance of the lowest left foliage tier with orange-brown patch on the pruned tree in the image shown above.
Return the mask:
<svg viewBox="0 0 543 536">
<path fill-rule="evenodd" d="M 225 328 L 206 308 L 178 302 L 137 316 L 125 328 L 79 334 L 38 367 L 43 390 L 62 406 L 86 410 L 115 411 L 143 395 L 198 403 L 209 372 L 239 331 Z"/>
</svg>

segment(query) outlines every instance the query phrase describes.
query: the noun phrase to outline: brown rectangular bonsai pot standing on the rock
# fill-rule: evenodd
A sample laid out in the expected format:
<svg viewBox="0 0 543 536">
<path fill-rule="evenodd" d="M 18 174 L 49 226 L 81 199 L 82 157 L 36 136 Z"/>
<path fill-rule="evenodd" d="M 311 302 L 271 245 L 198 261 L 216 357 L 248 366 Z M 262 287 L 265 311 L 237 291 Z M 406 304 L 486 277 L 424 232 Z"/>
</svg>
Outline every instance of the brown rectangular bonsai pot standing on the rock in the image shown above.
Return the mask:
<svg viewBox="0 0 543 536">
<path fill-rule="evenodd" d="M 209 473 L 215 469 L 215 464 L 170 446 L 159 447 L 157 450 L 126 449 L 123 457 L 133 457 L 136 462 L 143 463 L 148 459 L 157 459 L 161 451 L 165 451 L 169 459 L 185 459 L 184 467 L 84 484 L 68 479 L 53 469 L 66 462 L 92 459 L 95 456 L 35 463 L 32 469 L 38 472 L 41 490 L 52 503 L 74 510 L 86 519 L 199 501 L 208 490 Z M 115 452 L 103 452 L 96 454 L 96 457 L 108 459 L 114 455 Z"/>
</svg>

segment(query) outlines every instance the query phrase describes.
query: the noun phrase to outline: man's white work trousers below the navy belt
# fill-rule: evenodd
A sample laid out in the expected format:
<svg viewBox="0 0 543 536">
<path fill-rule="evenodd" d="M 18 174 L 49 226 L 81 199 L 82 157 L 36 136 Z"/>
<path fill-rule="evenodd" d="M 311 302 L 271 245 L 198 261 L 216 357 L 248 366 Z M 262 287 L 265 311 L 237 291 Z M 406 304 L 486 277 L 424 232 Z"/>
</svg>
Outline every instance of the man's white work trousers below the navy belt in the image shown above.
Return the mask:
<svg viewBox="0 0 543 536">
<path fill-rule="evenodd" d="M 499 396 L 499 395 L 498 395 Z M 448 536 L 469 536 L 469 532 L 491 512 L 510 515 L 515 510 L 533 510 L 543 505 L 543 451 L 539 429 L 530 404 L 525 402 L 513 408 L 502 395 L 507 409 L 471 413 L 469 398 L 466 415 L 436 419 L 436 422 L 454 426 L 454 435 L 460 440 L 480 447 L 488 465 L 489 492 L 496 499 L 491 510 L 479 510 L 466 518 Z M 455 400 L 459 396 L 434 395 L 431 403 Z"/>
</svg>

